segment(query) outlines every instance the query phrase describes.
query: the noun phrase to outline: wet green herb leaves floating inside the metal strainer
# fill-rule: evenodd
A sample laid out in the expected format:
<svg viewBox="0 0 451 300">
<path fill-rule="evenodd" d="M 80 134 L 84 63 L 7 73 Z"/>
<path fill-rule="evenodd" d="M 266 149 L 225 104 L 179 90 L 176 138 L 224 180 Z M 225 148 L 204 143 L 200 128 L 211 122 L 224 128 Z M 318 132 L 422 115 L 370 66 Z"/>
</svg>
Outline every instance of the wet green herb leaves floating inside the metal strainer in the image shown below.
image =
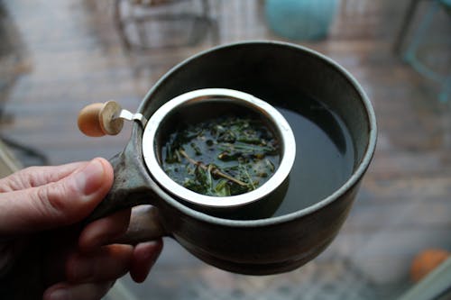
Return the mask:
<svg viewBox="0 0 451 300">
<path fill-rule="evenodd" d="M 226 116 L 172 132 L 165 172 L 203 195 L 239 195 L 266 182 L 279 164 L 279 142 L 260 119 Z"/>
</svg>

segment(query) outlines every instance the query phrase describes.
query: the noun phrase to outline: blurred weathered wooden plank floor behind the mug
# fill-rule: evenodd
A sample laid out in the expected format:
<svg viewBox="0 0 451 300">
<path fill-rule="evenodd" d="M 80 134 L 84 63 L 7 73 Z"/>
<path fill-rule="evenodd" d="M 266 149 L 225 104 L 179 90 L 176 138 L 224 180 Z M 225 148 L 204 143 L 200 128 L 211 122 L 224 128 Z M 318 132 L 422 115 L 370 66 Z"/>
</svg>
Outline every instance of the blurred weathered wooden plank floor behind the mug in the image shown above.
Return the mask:
<svg viewBox="0 0 451 300">
<path fill-rule="evenodd" d="M 415 253 L 425 248 L 451 250 L 450 104 L 439 103 L 438 86 L 391 50 L 409 2 L 342 1 L 327 40 L 299 42 L 336 59 L 362 83 L 380 129 L 373 165 L 329 249 L 299 271 L 241 277 L 208 267 L 167 240 L 143 285 L 124 278 L 136 298 L 317 299 L 312 286 L 352 277 L 354 282 L 340 283 L 347 287 L 327 299 L 391 299 L 410 285 L 410 259 Z M 231 41 L 283 40 L 267 28 L 262 1 L 230 0 L 212 5 L 217 28 L 197 28 L 205 30 L 205 36 L 194 44 L 159 47 L 174 40 L 170 34 L 179 34 L 175 41 L 189 36 L 188 26 L 178 26 L 170 28 L 175 33 L 168 36 L 149 33 L 154 49 L 127 50 L 113 22 L 113 3 L 0 2 L 4 138 L 39 151 L 50 164 L 111 157 L 123 149 L 129 127 L 115 137 L 87 138 L 76 125 L 81 107 L 115 99 L 133 111 L 159 77 L 199 50 Z M 425 9 L 420 7 L 420 13 Z M 23 151 L 18 155 L 25 165 L 42 161 Z M 285 294 L 274 294 L 276 290 Z"/>
</svg>

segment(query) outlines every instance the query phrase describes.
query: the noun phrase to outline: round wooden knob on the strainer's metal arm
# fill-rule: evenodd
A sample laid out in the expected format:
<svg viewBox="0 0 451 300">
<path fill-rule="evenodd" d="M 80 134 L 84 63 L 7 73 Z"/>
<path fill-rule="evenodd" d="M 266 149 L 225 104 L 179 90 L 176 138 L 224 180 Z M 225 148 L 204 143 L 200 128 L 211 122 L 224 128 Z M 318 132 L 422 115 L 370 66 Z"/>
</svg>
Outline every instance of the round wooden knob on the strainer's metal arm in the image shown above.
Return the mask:
<svg viewBox="0 0 451 300">
<path fill-rule="evenodd" d="M 121 111 L 121 105 L 115 101 L 87 105 L 78 114 L 78 128 L 91 137 L 115 135 L 124 126 L 124 120 L 119 118 Z"/>
</svg>

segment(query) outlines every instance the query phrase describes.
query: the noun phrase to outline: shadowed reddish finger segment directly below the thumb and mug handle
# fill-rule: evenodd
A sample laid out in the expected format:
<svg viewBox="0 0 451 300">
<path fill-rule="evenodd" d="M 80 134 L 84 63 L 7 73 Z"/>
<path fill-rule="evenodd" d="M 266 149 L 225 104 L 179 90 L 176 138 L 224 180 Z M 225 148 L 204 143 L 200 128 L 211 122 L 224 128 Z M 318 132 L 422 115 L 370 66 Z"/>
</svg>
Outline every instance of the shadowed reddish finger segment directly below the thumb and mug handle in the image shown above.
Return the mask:
<svg viewBox="0 0 451 300">
<path fill-rule="evenodd" d="M 127 231 L 130 214 L 131 209 L 125 209 L 87 224 L 78 240 L 79 249 L 90 252 L 123 235 Z"/>
</svg>

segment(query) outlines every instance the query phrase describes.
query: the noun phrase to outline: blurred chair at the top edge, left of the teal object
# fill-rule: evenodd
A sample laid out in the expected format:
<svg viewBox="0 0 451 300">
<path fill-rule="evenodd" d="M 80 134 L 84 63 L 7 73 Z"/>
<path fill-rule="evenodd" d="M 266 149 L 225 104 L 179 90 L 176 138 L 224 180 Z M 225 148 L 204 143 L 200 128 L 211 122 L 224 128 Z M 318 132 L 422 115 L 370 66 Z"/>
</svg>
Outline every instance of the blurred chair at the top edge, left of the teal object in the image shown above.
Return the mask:
<svg viewBox="0 0 451 300">
<path fill-rule="evenodd" d="M 217 39 L 208 0 L 115 0 L 115 24 L 129 50 L 195 45 L 208 30 Z"/>
</svg>

